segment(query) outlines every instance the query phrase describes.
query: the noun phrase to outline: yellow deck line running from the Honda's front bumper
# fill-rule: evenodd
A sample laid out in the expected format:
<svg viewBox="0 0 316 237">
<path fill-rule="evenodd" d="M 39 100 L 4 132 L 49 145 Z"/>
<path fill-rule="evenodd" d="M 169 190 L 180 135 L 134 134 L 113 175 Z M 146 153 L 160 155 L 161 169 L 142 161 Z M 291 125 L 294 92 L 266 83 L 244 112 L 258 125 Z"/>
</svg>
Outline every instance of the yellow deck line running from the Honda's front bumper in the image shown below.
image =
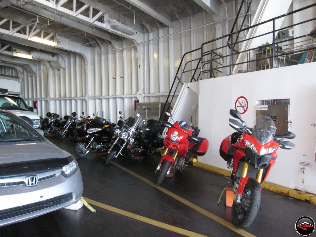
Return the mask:
<svg viewBox="0 0 316 237">
<path fill-rule="evenodd" d="M 97 206 L 97 207 L 100 207 L 100 208 L 103 208 L 103 209 L 106 209 L 106 210 L 118 213 L 118 214 L 123 215 L 123 216 L 127 216 L 127 217 L 135 219 L 137 221 L 141 221 L 141 222 L 153 225 L 153 226 L 157 226 L 157 227 L 169 230 L 169 231 L 173 231 L 175 233 L 183 234 L 183 235 L 186 235 L 186 236 L 192 236 L 192 237 L 207 237 L 207 236 L 202 235 L 202 234 L 197 234 L 197 233 L 189 231 L 189 230 L 178 228 L 178 227 L 175 227 L 175 226 L 172 226 L 172 225 L 168 225 L 168 224 L 163 223 L 163 222 L 159 222 L 159 221 L 155 221 L 155 220 L 149 219 L 149 218 L 144 217 L 144 216 L 139 216 L 137 214 L 134 214 L 134 213 L 131 213 L 131 212 L 128 212 L 128 211 L 124 211 L 124 210 L 121 210 L 121 209 L 118 209 L 118 208 L 115 208 L 115 207 L 111 207 L 109 205 L 106 205 L 106 204 L 99 203 L 99 202 L 96 202 L 94 200 L 91 200 L 91 199 L 89 199 L 87 197 L 83 197 L 83 198 L 89 204 L 92 204 L 94 206 Z"/>
</svg>

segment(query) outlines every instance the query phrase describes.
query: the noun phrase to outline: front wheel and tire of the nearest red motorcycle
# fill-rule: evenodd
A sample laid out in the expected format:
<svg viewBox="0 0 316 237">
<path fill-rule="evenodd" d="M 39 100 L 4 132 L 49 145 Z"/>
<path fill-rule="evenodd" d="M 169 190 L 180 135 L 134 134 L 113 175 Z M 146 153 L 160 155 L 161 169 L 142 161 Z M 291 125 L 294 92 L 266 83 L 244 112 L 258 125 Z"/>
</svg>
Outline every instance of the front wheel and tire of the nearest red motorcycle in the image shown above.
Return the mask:
<svg viewBox="0 0 316 237">
<path fill-rule="evenodd" d="M 240 201 L 239 204 L 233 202 L 232 221 L 235 226 L 246 228 L 252 224 L 258 214 L 261 191 L 247 183 Z"/>
</svg>

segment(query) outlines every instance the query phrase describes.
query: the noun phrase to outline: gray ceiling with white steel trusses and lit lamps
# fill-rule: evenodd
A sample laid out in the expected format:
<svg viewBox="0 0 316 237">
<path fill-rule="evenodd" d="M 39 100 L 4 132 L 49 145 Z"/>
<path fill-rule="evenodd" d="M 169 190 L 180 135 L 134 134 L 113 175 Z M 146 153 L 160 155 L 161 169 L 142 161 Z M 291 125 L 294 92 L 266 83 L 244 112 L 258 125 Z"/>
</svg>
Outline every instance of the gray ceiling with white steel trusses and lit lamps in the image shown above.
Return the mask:
<svg viewBox="0 0 316 237">
<path fill-rule="evenodd" d="M 229 0 L 228 0 L 229 1 Z M 216 14 L 222 0 L 0 0 L 0 53 L 16 48 L 58 53 L 28 39 L 62 37 L 85 46 L 141 41 L 144 33 L 202 11 Z M 5 47 L 5 48 L 4 48 Z M 7 53 L 8 54 L 8 53 Z"/>
</svg>

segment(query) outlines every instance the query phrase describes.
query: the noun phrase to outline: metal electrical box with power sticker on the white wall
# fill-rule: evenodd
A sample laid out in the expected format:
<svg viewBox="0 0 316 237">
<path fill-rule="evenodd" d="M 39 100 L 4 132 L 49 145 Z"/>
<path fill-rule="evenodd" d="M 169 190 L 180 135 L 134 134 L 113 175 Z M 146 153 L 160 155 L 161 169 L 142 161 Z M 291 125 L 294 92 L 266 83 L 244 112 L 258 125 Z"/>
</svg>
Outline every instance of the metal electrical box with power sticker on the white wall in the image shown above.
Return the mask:
<svg viewBox="0 0 316 237">
<path fill-rule="evenodd" d="M 276 135 L 284 135 L 289 131 L 289 103 L 281 104 L 282 100 L 270 100 L 272 103 L 264 105 L 264 101 L 257 101 L 256 116 L 264 115 L 270 117 L 276 125 Z M 280 101 L 277 104 L 273 104 L 274 101 Z M 258 105 L 259 104 L 259 105 Z M 261 105 L 260 105 L 261 104 Z"/>
</svg>

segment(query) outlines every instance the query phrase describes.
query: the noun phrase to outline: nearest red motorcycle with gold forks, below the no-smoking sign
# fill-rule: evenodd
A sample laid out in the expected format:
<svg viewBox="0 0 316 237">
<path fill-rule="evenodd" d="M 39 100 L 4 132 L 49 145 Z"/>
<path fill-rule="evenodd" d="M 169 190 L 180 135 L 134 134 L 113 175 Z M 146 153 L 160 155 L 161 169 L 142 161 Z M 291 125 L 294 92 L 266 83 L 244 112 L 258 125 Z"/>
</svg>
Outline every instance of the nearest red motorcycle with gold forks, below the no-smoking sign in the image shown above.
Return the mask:
<svg viewBox="0 0 316 237">
<path fill-rule="evenodd" d="M 237 132 L 226 137 L 219 150 L 221 157 L 231 169 L 230 185 L 236 193 L 232 206 L 232 221 L 245 228 L 252 224 L 257 216 L 261 202 L 261 183 L 267 178 L 276 160 L 276 151 L 293 149 L 294 144 L 283 141 L 293 139 L 295 134 L 288 131 L 283 136 L 276 135 L 272 119 L 258 116 L 248 128 L 237 110 L 230 115 L 239 119 L 229 119 L 229 125 Z"/>
</svg>

